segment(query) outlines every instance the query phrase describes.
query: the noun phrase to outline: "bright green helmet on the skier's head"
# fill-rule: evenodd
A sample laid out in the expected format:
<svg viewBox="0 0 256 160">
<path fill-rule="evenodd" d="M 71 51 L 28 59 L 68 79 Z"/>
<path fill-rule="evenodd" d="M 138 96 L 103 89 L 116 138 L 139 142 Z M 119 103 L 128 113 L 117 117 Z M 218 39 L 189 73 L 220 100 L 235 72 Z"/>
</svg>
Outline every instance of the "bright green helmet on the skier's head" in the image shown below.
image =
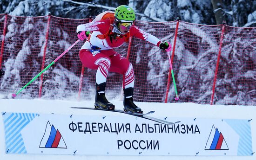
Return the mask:
<svg viewBox="0 0 256 160">
<path fill-rule="evenodd" d="M 134 21 L 135 20 L 135 12 L 134 10 L 126 5 L 118 6 L 115 9 L 115 18 L 120 21 Z"/>
</svg>

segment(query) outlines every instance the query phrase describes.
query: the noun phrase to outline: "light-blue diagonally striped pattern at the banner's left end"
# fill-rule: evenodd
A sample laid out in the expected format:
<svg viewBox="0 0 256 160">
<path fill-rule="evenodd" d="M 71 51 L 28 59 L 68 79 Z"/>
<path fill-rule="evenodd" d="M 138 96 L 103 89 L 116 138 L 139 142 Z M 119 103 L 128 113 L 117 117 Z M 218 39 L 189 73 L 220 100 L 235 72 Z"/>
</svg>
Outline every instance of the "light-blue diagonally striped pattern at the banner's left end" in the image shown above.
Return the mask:
<svg viewBox="0 0 256 160">
<path fill-rule="evenodd" d="M 36 116 L 37 114 L 29 114 L 29 113 L 5 113 L 3 115 L 7 154 L 27 153 L 27 150 L 24 145 L 22 135 L 20 132 Z"/>
</svg>

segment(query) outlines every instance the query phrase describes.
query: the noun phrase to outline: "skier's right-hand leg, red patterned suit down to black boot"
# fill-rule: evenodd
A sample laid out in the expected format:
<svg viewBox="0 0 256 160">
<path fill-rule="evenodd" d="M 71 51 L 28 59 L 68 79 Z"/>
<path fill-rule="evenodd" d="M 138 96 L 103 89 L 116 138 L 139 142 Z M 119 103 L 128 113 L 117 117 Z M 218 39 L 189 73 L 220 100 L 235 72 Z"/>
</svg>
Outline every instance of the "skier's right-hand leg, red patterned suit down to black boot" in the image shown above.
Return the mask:
<svg viewBox="0 0 256 160">
<path fill-rule="evenodd" d="M 123 75 L 123 91 L 124 91 L 124 111 L 142 113 L 141 109 L 133 102 L 134 91 L 134 70 L 133 65 L 128 59 L 122 57 L 120 54 L 115 53 L 111 58 L 110 71 L 118 72 Z"/>
</svg>

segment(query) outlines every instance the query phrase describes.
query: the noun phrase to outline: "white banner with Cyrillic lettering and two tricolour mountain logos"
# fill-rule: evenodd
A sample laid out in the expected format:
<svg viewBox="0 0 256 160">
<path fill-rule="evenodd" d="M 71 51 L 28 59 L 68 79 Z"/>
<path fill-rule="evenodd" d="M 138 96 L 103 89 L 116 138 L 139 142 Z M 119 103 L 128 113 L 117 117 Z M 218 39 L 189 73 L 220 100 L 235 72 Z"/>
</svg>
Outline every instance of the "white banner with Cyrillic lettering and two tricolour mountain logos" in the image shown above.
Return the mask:
<svg viewBox="0 0 256 160">
<path fill-rule="evenodd" d="M 118 114 L 117 114 L 118 115 Z M 2 113 L 7 154 L 252 155 L 248 120 Z"/>
</svg>

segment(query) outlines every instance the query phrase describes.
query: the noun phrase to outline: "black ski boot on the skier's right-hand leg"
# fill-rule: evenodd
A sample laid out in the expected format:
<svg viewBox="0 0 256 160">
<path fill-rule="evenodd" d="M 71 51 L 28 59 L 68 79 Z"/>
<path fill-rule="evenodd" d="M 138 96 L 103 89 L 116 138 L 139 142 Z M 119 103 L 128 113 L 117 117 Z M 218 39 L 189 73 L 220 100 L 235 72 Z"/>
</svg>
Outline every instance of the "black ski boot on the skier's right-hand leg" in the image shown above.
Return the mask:
<svg viewBox="0 0 256 160">
<path fill-rule="evenodd" d="M 130 112 L 130 113 L 142 113 L 141 108 L 136 106 L 133 102 L 133 88 L 127 88 L 123 89 L 124 91 L 124 98 L 123 98 L 123 110 L 125 112 Z M 128 98 L 126 98 L 128 97 Z"/>
</svg>

